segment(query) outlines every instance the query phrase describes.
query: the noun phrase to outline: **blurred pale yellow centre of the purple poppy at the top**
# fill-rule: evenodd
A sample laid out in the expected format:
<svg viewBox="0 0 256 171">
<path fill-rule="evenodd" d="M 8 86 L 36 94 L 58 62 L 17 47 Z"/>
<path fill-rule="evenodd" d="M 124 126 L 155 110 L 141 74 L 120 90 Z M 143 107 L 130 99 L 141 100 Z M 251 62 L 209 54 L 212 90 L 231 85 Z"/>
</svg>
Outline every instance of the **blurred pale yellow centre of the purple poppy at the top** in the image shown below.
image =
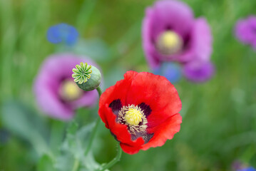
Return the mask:
<svg viewBox="0 0 256 171">
<path fill-rule="evenodd" d="M 158 37 L 156 48 L 163 55 L 173 55 L 183 48 L 183 39 L 174 31 L 164 31 Z"/>
</svg>

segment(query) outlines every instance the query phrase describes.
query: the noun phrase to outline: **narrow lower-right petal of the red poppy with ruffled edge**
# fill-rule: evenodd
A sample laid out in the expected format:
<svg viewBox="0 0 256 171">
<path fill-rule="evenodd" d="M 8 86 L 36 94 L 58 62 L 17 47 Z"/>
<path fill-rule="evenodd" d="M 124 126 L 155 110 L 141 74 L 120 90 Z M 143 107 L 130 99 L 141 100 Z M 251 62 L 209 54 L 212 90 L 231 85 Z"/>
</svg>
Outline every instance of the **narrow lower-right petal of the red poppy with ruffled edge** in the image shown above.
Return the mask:
<svg viewBox="0 0 256 171">
<path fill-rule="evenodd" d="M 180 113 L 177 113 L 168 120 L 165 120 L 161 125 L 151 128 L 150 132 L 154 132 L 153 138 L 143 145 L 142 150 L 148 150 L 150 147 L 158 147 L 164 145 L 166 140 L 173 139 L 173 135 L 180 131 L 180 123 L 182 123 L 182 118 Z"/>
</svg>

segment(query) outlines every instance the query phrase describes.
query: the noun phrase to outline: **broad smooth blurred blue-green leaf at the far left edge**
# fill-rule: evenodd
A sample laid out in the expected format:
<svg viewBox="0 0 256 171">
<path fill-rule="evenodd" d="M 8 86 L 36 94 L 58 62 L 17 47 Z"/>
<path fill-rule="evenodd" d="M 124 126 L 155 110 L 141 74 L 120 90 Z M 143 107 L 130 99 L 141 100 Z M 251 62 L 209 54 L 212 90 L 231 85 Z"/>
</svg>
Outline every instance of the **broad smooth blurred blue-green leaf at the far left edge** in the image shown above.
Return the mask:
<svg viewBox="0 0 256 171">
<path fill-rule="evenodd" d="M 49 153 L 46 145 L 48 129 L 39 115 L 17 100 L 7 101 L 2 106 L 1 120 L 5 128 L 31 142 L 39 155 Z"/>
</svg>

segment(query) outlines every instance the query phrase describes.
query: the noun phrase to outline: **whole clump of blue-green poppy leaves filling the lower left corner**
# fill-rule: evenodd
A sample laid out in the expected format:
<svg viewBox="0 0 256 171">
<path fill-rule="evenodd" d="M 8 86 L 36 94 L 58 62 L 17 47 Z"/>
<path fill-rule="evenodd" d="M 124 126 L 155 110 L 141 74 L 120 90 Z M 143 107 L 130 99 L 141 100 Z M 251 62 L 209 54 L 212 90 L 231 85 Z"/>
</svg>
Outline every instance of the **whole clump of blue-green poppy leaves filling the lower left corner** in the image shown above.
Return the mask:
<svg viewBox="0 0 256 171">
<path fill-rule="evenodd" d="M 66 130 L 66 136 L 59 146 L 56 154 L 48 147 L 46 137 L 42 131 L 46 131 L 45 125 L 36 113 L 17 101 L 4 103 L 1 119 L 4 127 L 11 133 L 28 141 L 38 153 L 37 170 L 93 171 L 100 169 L 101 165 L 94 160 L 91 150 L 86 155 L 91 131 L 95 124 L 86 125 L 78 129 L 78 124 L 73 121 Z M 15 118 L 15 119 L 14 119 Z"/>
</svg>

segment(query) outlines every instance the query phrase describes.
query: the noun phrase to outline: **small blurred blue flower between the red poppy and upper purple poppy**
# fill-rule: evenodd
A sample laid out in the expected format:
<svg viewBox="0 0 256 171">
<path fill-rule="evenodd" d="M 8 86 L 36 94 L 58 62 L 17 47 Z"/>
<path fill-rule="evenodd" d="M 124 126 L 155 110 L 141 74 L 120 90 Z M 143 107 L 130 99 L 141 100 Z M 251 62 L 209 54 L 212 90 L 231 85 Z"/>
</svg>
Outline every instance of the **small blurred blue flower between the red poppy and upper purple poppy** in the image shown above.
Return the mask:
<svg viewBox="0 0 256 171">
<path fill-rule="evenodd" d="M 164 76 L 170 83 L 177 83 L 182 76 L 182 71 L 178 63 L 162 63 L 159 68 L 153 71 L 153 73 Z"/>
</svg>

